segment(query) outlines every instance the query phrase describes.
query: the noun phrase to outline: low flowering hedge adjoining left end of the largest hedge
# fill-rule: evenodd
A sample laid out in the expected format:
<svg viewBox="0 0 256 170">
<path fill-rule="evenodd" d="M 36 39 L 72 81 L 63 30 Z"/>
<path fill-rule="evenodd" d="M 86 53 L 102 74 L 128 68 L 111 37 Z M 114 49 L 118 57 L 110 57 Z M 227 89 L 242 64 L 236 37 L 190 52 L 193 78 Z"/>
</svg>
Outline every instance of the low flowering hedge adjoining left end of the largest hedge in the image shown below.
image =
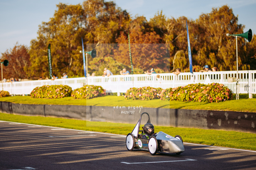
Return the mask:
<svg viewBox="0 0 256 170">
<path fill-rule="evenodd" d="M 153 87 L 130 88 L 126 91 L 124 98 L 133 100 L 152 100 L 160 99 L 160 93 L 163 89 Z"/>
</svg>

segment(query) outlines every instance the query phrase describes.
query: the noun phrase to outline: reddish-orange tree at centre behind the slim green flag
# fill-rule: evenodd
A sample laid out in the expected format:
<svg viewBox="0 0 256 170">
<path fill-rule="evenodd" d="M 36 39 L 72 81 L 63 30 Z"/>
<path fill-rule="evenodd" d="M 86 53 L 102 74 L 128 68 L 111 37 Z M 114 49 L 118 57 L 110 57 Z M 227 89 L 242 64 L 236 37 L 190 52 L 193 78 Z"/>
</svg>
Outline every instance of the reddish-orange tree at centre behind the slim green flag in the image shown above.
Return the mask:
<svg viewBox="0 0 256 170">
<path fill-rule="evenodd" d="M 129 25 L 129 33 L 134 68 L 169 70 L 169 48 L 167 44 L 160 44 L 160 36 L 150 29 L 145 17 L 134 19 Z M 128 29 L 120 34 L 117 42 L 119 48 L 114 58 L 130 68 Z"/>
</svg>

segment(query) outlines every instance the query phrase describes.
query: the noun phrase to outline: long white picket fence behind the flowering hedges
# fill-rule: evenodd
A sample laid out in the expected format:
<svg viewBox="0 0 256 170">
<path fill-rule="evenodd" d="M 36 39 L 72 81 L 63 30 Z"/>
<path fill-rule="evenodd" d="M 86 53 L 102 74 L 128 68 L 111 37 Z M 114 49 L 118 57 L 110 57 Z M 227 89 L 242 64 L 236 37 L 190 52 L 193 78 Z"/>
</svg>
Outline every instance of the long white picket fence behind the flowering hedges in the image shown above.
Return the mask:
<svg viewBox="0 0 256 170">
<path fill-rule="evenodd" d="M 228 83 L 228 77 L 236 78 L 237 71 L 216 71 L 216 72 L 194 72 L 180 73 L 178 76 L 173 73 L 161 74 L 129 74 L 113 76 L 95 76 L 88 77 L 89 85 L 102 86 L 106 92 L 125 93 L 131 87 L 161 87 L 163 89 L 185 86 L 188 84 L 202 83 L 221 83 L 236 93 L 236 83 Z M 159 75 L 160 78 L 156 78 Z M 247 93 L 249 98 L 256 94 L 256 70 L 238 71 L 239 89 L 238 93 Z M 87 83 L 85 77 L 67 78 L 55 80 L 33 80 L 18 81 L 13 83 L 0 83 L 0 89 L 8 91 L 11 95 L 26 95 L 35 87 L 43 85 L 68 85 L 72 90 L 80 88 Z M 251 96 L 251 97 L 250 97 Z"/>
</svg>

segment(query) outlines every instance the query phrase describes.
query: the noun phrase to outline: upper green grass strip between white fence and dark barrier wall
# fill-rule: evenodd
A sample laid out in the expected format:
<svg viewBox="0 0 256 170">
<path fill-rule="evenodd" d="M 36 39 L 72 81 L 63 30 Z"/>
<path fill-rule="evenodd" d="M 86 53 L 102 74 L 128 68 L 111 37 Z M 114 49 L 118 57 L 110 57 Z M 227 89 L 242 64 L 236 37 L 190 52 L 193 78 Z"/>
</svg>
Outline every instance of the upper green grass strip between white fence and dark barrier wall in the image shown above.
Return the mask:
<svg viewBox="0 0 256 170">
<path fill-rule="evenodd" d="M 239 94 L 240 99 L 219 103 L 204 102 L 180 102 L 180 101 L 161 101 L 154 99 L 149 101 L 125 100 L 123 96 L 104 96 L 93 99 L 73 99 L 64 97 L 61 99 L 37 99 L 30 96 L 10 96 L 1 97 L 0 101 L 20 103 L 20 104 L 53 104 L 53 105 L 92 105 L 92 106 L 142 106 L 152 108 L 170 109 L 192 109 L 192 110 L 223 110 L 238 112 L 256 112 L 256 95 L 253 99 L 248 99 L 248 94 Z"/>
</svg>

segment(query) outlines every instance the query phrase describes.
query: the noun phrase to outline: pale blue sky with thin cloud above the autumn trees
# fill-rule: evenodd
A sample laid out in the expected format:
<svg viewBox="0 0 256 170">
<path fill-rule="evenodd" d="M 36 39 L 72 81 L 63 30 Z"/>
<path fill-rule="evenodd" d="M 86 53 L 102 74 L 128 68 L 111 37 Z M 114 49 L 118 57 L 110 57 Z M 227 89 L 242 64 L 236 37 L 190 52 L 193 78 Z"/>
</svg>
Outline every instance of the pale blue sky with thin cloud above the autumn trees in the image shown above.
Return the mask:
<svg viewBox="0 0 256 170">
<path fill-rule="evenodd" d="M 108 0 L 105 0 L 108 1 Z M 167 18 L 185 16 L 196 20 L 212 8 L 228 5 L 233 14 L 238 15 L 238 24 L 245 25 L 256 32 L 256 0 L 113 0 L 118 7 L 126 10 L 134 18 L 144 16 L 147 20 L 158 11 L 163 11 Z M 48 22 L 55 12 L 56 4 L 82 4 L 83 0 L 0 0 L 0 53 L 18 45 L 30 46 L 36 39 L 38 26 Z M 242 32 L 241 32 L 242 33 Z M 230 33 L 233 34 L 233 33 Z"/>
</svg>

